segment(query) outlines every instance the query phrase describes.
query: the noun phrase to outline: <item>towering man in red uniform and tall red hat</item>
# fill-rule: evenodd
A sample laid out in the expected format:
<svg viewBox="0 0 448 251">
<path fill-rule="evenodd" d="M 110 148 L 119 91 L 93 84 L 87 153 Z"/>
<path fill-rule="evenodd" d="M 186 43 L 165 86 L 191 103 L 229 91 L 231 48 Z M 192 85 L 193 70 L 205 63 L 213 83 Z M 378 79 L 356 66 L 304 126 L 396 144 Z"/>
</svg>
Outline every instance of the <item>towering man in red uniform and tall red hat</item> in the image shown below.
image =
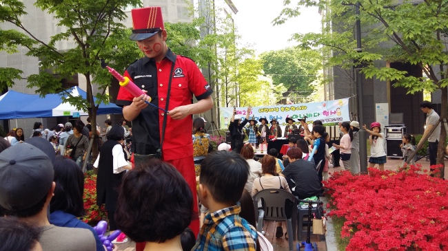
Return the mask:
<svg viewBox="0 0 448 251">
<path fill-rule="evenodd" d="M 145 56 L 129 65 L 124 76 L 146 94 L 134 97 L 120 87 L 116 105 L 123 107 L 123 116 L 132 122 L 132 133 L 137 135 L 132 139 L 134 160 L 138 164 L 156 155 L 176 166 L 195 195 L 191 115 L 212 109 L 212 87 L 192 59 L 176 55 L 167 47 L 161 7 L 132 9 L 131 15 L 130 39 Z M 192 103 L 193 95 L 196 103 Z M 196 199 L 193 204 L 198 215 Z M 190 228 L 198 234 L 196 218 Z"/>
</svg>

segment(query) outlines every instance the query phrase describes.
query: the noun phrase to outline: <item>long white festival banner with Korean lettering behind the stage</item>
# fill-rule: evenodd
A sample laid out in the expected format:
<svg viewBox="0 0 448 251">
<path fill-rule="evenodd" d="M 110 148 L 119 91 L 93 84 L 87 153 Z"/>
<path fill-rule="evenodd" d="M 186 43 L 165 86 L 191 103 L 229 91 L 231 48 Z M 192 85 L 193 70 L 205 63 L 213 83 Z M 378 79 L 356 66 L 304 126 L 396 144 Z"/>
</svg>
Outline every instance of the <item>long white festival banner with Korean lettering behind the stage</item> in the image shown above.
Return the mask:
<svg viewBox="0 0 448 251">
<path fill-rule="evenodd" d="M 221 107 L 221 128 L 227 128 L 232 118 L 233 107 Z M 235 118 L 245 120 L 247 107 L 236 107 Z M 276 118 L 278 124 L 286 125 L 286 118 L 296 120 L 307 116 L 307 123 L 312 124 L 314 120 L 320 120 L 323 124 L 349 121 L 349 98 L 338 100 L 327 100 L 323 102 L 310 102 L 294 105 L 272 105 L 264 107 L 252 107 L 249 118 L 254 117 L 257 121 L 260 118 L 267 118 L 271 121 Z M 259 124 L 259 122 L 258 122 Z"/>
</svg>

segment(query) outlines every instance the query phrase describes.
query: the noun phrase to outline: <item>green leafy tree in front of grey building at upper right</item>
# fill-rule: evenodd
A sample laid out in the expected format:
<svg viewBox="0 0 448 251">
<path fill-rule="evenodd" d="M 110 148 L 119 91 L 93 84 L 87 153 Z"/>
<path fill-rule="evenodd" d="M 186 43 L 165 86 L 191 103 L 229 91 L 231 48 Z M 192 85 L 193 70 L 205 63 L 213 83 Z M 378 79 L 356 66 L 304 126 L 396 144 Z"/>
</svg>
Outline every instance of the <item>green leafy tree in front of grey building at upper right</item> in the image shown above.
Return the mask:
<svg viewBox="0 0 448 251">
<path fill-rule="evenodd" d="M 323 10 L 325 29 L 320 34 L 296 34 L 301 47 L 325 45 L 329 65 L 345 69 L 363 65 L 367 78 L 391 80 L 396 87 L 416 91 L 442 90 L 441 117 L 447 116 L 447 32 L 448 0 L 284 0 L 285 8 L 274 23 L 283 23 L 300 14 L 300 8 L 317 6 Z M 360 14 L 354 6 L 359 3 Z M 360 19 L 363 52 L 356 52 L 354 24 Z M 331 24 L 331 25 L 330 25 Z M 381 46 L 378 46 L 381 45 Z M 423 76 L 384 67 L 381 61 L 409 63 L 420 67 Z M 445 130 L 440 135 L 438 162 L 443 164 Z"/>
</svg>

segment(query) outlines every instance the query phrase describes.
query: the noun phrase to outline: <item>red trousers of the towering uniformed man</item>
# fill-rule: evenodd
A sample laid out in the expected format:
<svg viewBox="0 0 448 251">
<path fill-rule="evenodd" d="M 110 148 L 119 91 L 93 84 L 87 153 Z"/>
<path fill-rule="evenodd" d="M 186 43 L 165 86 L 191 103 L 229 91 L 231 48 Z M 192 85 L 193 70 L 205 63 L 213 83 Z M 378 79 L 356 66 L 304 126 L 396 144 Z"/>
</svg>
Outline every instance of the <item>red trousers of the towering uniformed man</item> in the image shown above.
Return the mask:
<svg viewBox="0 0 448 251">
<path fill-rule="evenodd" d="M 182 159 L 176 159 L 176 160 L 167 160 L 168 163 L 172 164 L 176 167 L 177 171 L 181 173 L 181 175 L 185 178 L 185 181 L 187 181 L 188 186 L 190 186 L 190 189 L 193 193 L 193 219 L 190 223 L 190 228 L 194 232 L 194 236 L 198 236 L 199 234 L 199 212 L 198 212 L 198 200 L 196 199 L 197 192 L 196 192 L 196 175 L 194 173 L 194 161 L 193 156 L 190 157 L 184 157 Z M 145 249 L 145 243 L 139 242 L 136 243 L 136 251 L 143 251 Z"/>
</svg>

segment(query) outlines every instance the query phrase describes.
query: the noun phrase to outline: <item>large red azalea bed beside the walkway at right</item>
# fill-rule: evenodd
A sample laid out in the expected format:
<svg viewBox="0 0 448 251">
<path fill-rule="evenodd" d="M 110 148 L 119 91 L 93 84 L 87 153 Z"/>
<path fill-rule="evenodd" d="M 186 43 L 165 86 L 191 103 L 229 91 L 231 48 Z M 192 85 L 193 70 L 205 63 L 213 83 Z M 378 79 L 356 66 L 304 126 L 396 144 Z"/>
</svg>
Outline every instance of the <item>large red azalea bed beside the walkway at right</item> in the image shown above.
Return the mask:
<svg viewBox="0 0 448 251">
<path fill-rule="evenodd" d="M 349 237 L 347 250 L 448 250 L 448 182 L 420 165 L 338 172 L 325 187 L 329 216 L 345 219 L 340 235 Z"/>
</svg>

